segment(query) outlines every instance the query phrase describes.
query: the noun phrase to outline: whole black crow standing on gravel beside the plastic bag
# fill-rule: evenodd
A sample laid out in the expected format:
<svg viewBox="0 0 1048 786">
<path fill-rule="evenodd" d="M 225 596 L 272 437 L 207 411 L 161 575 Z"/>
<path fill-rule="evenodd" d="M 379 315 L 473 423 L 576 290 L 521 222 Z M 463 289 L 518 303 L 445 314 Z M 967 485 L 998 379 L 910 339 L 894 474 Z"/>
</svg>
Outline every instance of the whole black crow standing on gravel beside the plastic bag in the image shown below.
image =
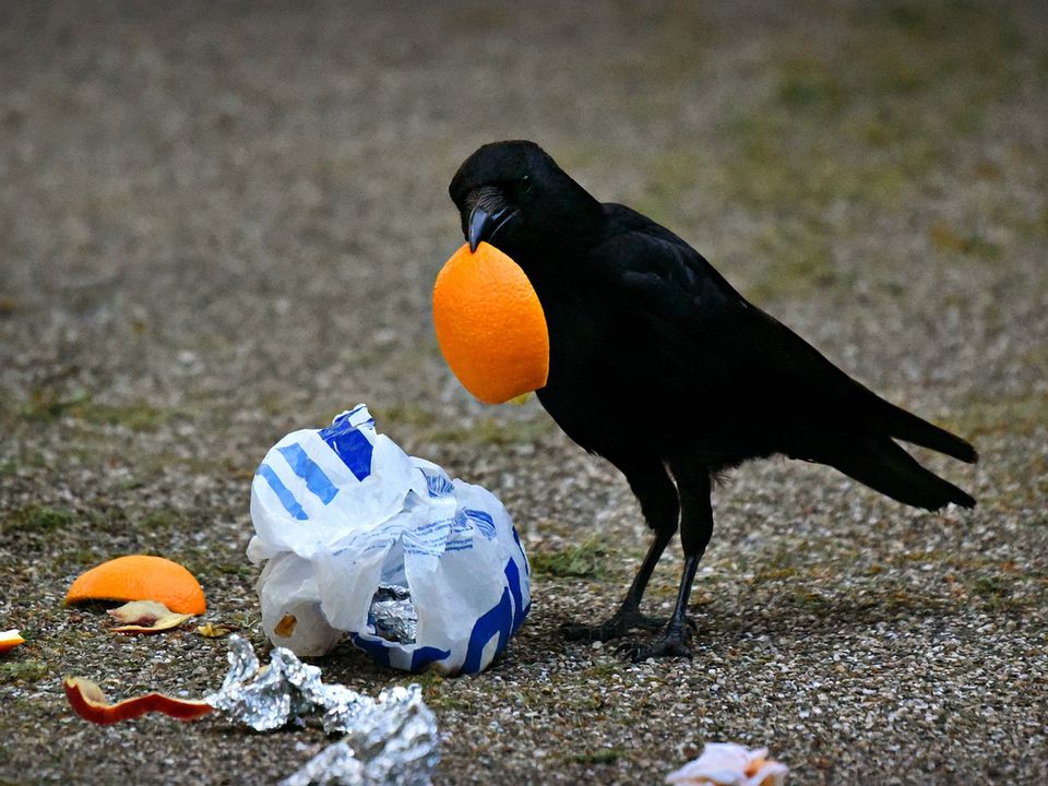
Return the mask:
<svg viewBox="0 0 1048 786">
<path fill-rule="evenodd" d="M 655 533 L 619 610 L 570 626 L 569 638 L 662 627 L 640 603 L 679 523 L 684 568 L 672 616 L 654 643 L 627 651 L 638 660 L 690 655 L 686 615 L 713 533 L 711 478 L 750 458 L 829 464 L 916 508 L 975 505 L 896 440 L 974 463 L 970 444 L 853 380 L 687 242 L 602 204 L 535 143 L 484 145 L 449 191 L 469 246 L 487 241 L 516 261 L 543 305 L 550 362 L 538 400 L 572 440 L 626 475 Z"/>
</svg>

